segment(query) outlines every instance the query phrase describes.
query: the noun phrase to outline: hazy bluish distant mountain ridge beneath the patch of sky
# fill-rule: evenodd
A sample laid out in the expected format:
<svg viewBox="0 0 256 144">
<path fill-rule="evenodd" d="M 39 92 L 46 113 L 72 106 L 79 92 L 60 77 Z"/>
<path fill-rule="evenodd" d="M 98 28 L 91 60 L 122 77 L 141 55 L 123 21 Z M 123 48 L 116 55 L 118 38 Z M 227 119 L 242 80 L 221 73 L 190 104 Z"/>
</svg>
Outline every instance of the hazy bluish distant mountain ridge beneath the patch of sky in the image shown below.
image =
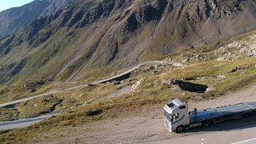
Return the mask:
<svg viewBox="0 0 256 144">
<path fill-rule="evenodd" d="M 35 0 L 0 12 L 0 38 L 14 34 L 35 19 L 54 14 L 72 0 Z"/>
</svg>

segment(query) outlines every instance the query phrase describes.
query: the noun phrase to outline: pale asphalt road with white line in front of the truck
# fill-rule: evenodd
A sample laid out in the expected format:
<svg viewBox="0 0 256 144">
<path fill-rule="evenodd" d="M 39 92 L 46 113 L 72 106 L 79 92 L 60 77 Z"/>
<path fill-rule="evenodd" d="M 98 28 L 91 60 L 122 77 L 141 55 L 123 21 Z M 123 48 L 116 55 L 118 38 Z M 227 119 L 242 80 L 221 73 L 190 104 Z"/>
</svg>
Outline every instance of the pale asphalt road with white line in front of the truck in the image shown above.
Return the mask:
<svg viewBox="0 0 256 144">
<path fill-rule="evenodd" d="M 188 136 L 182 136 L 178 138 L 167 138 L 150 142 L 138 142 L 138 143 L 161 143 L 161 144 L 222 144 L 222 143 L 234 143 L 234 144 L 255 144 L 256 143 L 256 123 L 247 126 L 238 126 L 237 130 L 223 130 L 213 131 L 203 134 L 191 134 Z"/>
</svg>

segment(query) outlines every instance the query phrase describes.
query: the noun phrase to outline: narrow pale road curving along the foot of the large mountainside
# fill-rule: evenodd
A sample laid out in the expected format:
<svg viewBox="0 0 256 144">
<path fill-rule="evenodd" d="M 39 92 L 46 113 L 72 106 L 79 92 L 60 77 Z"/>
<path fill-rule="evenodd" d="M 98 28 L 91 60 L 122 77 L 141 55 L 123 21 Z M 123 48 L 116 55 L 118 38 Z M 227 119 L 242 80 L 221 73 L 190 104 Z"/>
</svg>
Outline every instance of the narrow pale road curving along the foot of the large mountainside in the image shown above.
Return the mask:
<svg viewBox="0 0 256 144">
<path fill-rule="evenodd" d="M 111 78 L 102 79 L 102 80 L 100 80 L 100 81 L 98 81 L 98 82 L 92 82 L 91 84 L 95 85 L 95 84 L 98 84 L 98 83 L 108 82 L 108 81 L 110 81 L 110 80 L 112 80 L 112 79 L 122 77 L 123 75 L 129 74 L 130 72 L 132 72 L 132 71 L 138 69 L 140 66 L 144 66 L 144 65 L 149 64 L 149 63 L 171 64 L 171 63 L 162 62 L 162 61 L 142 62 L 142 63 L 139 64 L 138 66 L 134 66 L 133 68 L 131 68 L 130 70 L 127 70 L 126 72 L 124 72 L 124 73 L 122 73 L 122 74 L 118 74 L 118 75 L 116 75 L 116 76 L 114 76 L 114 77 L 111 77 Z M 66 89 L 62 89 L 62 90 L 56 90 L 56 91 L 49 92 L 49 93 L 38 94 L 38 95 L 32 96 L 32 97 L 30 97 L 30 98 L 23 98 L 23 99 L 19 99 L 19 100 L 13 101 L 13 102 L 2 103 L 2 104 L 0 104 L 0 107 L 9 106 L 9 105 L 14 105 L 14 104 L 17 104 L 17 103 L 20 103 L 20 102 L 30 101 L 31 99 L 34 99 L 34 98 L 46 96 L 46 95 L 49 95 L 49 94 L 55 94 L 55 93 L 58 93 L 58 92 L 61 92 L 61 91 L 64 91 L 64 90 L 74 90 L 74 89 L 77 89 L 77 88 L 80 88 L 80 87 L 83 87 L 83 86 L 87 86 L 87 84 L 81 85 L 81 86 L 74 86 L 74 87 L 70 87 L 70 88 L 66 88 Z"/>
</svg>

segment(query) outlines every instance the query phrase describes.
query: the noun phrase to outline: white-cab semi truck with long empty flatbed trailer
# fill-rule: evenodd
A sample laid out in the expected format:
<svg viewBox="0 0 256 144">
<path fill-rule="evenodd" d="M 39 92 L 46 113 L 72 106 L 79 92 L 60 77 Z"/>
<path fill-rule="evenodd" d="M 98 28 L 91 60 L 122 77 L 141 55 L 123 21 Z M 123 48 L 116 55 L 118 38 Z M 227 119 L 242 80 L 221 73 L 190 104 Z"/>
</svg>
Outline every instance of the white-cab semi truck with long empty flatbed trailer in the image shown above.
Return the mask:
<svg viewBox="0 0 256 144">
<path fill-rule="evenodd" d="M 238 103 L 230 106 L 188 111 L 186 102 L 178 98 L 164 106 L 164 125 L 170 132 L 182 133 L 197 126 L 223 122 L 256 114 L 256 102 Z"/>
</svg>

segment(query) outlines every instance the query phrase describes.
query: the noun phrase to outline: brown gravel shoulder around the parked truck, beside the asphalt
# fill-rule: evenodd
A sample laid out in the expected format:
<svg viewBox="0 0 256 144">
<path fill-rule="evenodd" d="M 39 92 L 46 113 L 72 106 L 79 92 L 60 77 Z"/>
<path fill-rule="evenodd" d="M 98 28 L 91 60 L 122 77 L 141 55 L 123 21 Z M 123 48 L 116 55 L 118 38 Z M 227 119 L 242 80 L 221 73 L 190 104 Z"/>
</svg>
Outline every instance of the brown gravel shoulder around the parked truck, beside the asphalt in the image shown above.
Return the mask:
<svg viewBox="0 0 256 144">
<path fill-rule="evenodd" d="M 226 106 L 240 102 L 256 102 L 256 84 L 247 86 L 243 90 L 230 92 L 222 97 L 201 102 L 189 102 L 190 110 L 194 107 L 204 109 L 209 107 Z M 162 105 L 142 106 L 132 110 L 129 114 L 118 114 L 115 118 L 108 118 L 90 125 L 77 126 L 62 130 L 62 138 L 42 138 L 31 143 L 131 143 L 131 142 L 161 142 L 155 140 L 179 138 L 190 134 L 200 134 L 202 129 L 189 130 L 185 134 L 174 134 L 166 130 L 162 119 Z M 256 120 L 256 118 L 254 118 Z M 254 120 L 253 119 L 253 120 Z M 251 120 L 251 121 L 253 121 Z M 242 120 L 243 122 L 244 120 Z M 250 122 L 250 119 L 246 118 Z M 236 121 L 241 123 L 239 121 Z M 234 125 L 237 123 L 233 122 Z M 222 131 L 232 122 L 214 125 L 203 131 Z M 231 126 L 232 127 L 232 126 Z M 242 129 L 242 128 L 240 128 Z M 56 132 L 57 133 L 57 132 Z M 234 134 L 235 136 L 236 134 Z M 45 137 L 48 137 L 47 134 Z M 241 136 L 242 137 L 242 136 Z M 175 140 L 175 139 L 174 139 Z M 178 139 L 176 139 L 178 141 Z"/>
</svg>

